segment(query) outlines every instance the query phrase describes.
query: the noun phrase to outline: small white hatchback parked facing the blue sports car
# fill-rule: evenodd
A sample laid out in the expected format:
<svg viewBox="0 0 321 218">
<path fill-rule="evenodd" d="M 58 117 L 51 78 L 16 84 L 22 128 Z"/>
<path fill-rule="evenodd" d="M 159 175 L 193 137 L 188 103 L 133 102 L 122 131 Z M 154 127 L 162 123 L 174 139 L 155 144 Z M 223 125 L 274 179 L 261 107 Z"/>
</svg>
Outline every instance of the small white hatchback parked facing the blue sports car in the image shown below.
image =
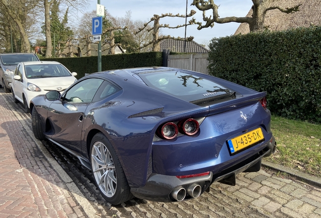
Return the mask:
<svg viewBox="0 0 321 218">
<path fill-rule="evenodd" d="M 15 69 L 11 84 L 13 100 L 16 103 L 22 102 L 25 112 L 30 113 L 33 97 L 51 90 L 62 93 L 77 81 L 76 75 L 59 62 L 21 62 Z"/>
</svg>

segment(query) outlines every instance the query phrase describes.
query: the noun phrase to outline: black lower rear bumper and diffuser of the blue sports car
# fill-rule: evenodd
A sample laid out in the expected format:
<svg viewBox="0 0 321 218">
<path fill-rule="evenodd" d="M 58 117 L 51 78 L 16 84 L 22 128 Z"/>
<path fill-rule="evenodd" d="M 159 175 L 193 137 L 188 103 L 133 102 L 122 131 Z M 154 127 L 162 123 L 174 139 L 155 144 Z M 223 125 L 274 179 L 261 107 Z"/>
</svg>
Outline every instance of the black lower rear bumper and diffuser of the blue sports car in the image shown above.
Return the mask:
<svg viewBox="0 0 321 218">
<path fill-rule="evenodd" d="M 275 140 L 270 144 L 272 143 L 274 145 Z M 235 185 L 237 174 L 242 172 L 257 172 L 260 170 L 262 157 L 270 155 L 272 152 L 273 147 L 270 146 L 270 144 L 259 153 L 215 175 L 210 172 L 206 176 L 178 179 L 176 176 L 151 174 L 145 186 L 131 188 L 131 192 L 135 197 L 145 200 L 173 202 L 188 200 L 195 197 L 188 191 L 190 188 L 195 186 L 200 187 L 200 195 L 205 190 L 209 189 L 209 186 L 213 182 Z M 184 195 L 180 196 L 179 200 L 177 200 L 178 191 L 180 192 L 180 195 Z M 197 195 L 197 197 L 199 195 Z"/>
</svg>

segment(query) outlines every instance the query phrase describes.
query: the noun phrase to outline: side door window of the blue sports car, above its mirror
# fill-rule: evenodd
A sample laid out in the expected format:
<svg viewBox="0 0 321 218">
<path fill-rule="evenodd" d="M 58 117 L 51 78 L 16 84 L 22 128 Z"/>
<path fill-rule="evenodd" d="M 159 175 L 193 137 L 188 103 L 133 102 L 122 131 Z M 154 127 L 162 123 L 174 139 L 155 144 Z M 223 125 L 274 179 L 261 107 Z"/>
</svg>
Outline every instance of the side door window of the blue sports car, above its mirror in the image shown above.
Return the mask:
<svg viewBox="0 0 321 218">
<path fill-rule="evenodd" d="M 91 102 L 102 82 L 97 78 L 83 80 L 69 89 L 63 99 L 74 103 Z"/>
</svg>

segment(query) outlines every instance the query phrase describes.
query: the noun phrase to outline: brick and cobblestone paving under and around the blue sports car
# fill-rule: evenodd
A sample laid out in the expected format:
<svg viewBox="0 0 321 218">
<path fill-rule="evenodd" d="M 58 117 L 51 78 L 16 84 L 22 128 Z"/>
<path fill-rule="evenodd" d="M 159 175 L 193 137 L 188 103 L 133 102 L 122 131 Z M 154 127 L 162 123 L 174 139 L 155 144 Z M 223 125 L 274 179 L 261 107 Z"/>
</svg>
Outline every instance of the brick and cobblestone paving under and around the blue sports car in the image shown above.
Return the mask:
<svg viewBox="0 0 321 218">
<path fill-rule="evenodd" d="M 77 158 L 31 131 L 0 89 L 0 217 L 321 217 L 321 190 L 274 171 L 242 173 L 189 201 L 106 203 Z"/>
</svg>

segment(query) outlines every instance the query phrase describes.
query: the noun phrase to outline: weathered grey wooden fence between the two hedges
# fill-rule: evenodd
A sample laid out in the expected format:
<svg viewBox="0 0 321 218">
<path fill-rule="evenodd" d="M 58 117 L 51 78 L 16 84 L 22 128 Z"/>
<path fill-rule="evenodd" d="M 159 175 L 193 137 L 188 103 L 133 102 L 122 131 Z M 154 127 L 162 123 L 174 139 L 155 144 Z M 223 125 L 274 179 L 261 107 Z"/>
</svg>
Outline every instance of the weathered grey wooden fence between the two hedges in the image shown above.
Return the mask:
<svg viewBox="0 0 321 218">
<path fill-rule="evenodd" d="M 188 55 L 169 55 L 167 66 L 172 68 L 181 68 L 192 70 L 203 74 L 208 74 L 208 53 L 195 53 Z"/>
</svg>

